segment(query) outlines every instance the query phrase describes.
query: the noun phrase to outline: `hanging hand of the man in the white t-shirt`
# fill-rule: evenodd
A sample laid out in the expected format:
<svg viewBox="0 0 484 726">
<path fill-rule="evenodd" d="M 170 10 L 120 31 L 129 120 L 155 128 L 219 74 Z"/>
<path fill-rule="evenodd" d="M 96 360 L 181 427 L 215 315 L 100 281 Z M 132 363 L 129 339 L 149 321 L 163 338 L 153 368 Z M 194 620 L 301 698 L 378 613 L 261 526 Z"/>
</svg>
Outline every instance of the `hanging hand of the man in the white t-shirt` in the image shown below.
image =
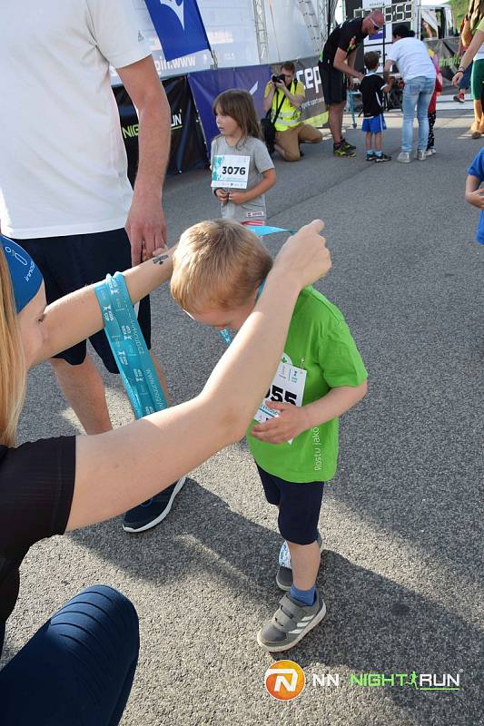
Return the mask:
<svg viewBox="0 0 484 726">
<path fill-rule="evenodd" d="M 166 221 L 160 198 L 157 195 L 141 197 L 134 194 L 124 229 L 131 243 L 133 267 L 139 265 L 143 259 L 149 260 L 153 250 L 164 247 L 167 238 Z"/>
</svg>

